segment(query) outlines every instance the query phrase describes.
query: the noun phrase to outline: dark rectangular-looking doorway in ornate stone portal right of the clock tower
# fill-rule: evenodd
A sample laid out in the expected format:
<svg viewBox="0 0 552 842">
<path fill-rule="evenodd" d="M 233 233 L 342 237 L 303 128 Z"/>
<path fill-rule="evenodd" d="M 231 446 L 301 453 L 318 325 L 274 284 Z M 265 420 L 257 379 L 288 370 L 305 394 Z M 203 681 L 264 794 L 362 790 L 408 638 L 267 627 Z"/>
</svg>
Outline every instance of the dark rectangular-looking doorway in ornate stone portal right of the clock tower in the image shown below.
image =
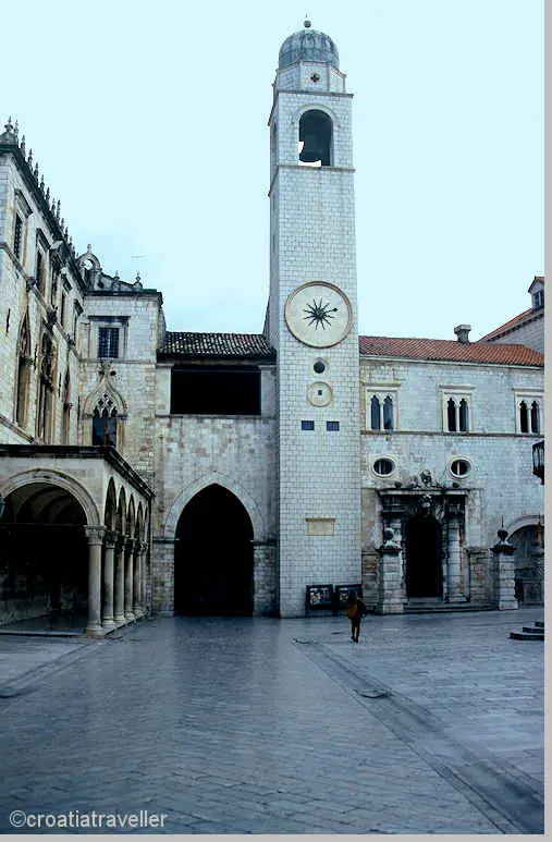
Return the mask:
<svg viewBox="0 0 552 842">
<path fill-rule="evenodd" d="M 432 514 L 416 514 L 406 523 L 406 596 L 442 598 L 441 524 Z"/>
</svg>

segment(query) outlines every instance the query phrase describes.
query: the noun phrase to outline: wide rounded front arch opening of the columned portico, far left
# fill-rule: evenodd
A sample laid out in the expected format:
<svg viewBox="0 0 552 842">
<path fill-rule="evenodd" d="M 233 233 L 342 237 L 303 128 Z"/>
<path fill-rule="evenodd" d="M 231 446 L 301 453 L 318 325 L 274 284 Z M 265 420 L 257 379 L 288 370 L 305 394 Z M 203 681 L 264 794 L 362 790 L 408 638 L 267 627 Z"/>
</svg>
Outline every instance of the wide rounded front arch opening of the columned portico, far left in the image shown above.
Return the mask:
<svg viewBox="0 0 552 842">
<path fill-rule="evenodd" d="M 50 483 L 29 483 L 7 496 L 0 524 L 0 624 L 86 618 L 86 522 L 75 497 Z"/>
</svg>

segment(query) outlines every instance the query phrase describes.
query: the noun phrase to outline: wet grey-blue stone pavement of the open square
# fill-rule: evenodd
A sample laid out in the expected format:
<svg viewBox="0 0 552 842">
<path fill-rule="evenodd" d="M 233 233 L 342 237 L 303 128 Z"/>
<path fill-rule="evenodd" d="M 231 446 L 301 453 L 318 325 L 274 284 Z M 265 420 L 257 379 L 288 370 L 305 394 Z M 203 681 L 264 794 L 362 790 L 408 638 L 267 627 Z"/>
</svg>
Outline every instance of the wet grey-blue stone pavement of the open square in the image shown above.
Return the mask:
<svg viewBox="0 0 552 842">
<path fill-rule="evenodd" d="M 0 636 L 0 830 L 542 833 L 543 648 L 508 637 L 541 617 L 369 615 L 358 645 L 344 618 Z"/>
</svg>

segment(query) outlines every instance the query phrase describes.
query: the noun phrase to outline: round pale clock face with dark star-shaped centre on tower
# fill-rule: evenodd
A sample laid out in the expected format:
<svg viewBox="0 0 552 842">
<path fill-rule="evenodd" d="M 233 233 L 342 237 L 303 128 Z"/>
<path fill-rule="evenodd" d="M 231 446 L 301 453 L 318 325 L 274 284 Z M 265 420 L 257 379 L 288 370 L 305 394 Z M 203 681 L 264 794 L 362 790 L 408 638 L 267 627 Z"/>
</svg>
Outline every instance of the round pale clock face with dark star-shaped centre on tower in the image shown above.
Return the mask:
<svg viewBox="0 0 552 842">
<path fill-rule="evenodd" d="M 351 329 L 347 296 L 326 281 L 309 281 L 285 302 L 285 322 L 293 335 L 311 347 L 336 345 Z"/>
</svg>

